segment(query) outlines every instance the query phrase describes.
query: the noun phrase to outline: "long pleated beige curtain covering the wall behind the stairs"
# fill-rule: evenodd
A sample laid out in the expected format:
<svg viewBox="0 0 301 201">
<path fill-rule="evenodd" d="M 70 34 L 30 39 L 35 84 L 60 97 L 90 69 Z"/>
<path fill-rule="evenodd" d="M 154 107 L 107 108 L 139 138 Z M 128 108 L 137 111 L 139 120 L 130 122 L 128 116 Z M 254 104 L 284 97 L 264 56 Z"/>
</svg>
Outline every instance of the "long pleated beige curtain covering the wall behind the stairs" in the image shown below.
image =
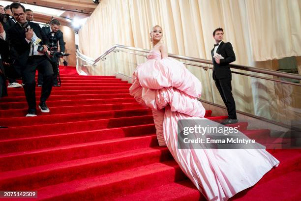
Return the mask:
<svg viewBox="0 0 301 201">
<path fill-rule="evenodd" d="M 115 44 L 151 49 L 150 29 L 160 25 L 169 53 L 211 59 L 212 32 L 221 27 L 236 53 L 234 63 L 256 66 L 255 61 L 301 56 L 300 6 L 300 0 L 102 0 L 79 31 L 80 51 L 96 58 Z M 130 76 L 145 61 L 125 53 L 112 59 L 95 72 L 118 69 Z M 187 68 L 201 80 L 202 98 L 223 105 L 211 70 Z M 264 108 L 270 119 L 279 114 L 274 82 L 233 74 L 232 86 L 237 110 L 260 115 Z"/>
</svg>

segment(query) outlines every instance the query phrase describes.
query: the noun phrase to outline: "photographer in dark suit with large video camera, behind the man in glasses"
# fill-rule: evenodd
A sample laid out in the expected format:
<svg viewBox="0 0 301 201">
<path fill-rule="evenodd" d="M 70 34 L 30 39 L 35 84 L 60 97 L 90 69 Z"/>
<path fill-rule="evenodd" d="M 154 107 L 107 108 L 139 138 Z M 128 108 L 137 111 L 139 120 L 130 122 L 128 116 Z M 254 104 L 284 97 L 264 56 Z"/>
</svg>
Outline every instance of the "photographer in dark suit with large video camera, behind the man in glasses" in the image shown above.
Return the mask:
<svg viewBox="0 0 301 201">
<path fill-rule="evenodd" d="M 57 19 L 53 19 L 50 22 L 50 27 L 43 27 L 42 31 L 49 39 L 50 51 L 54 50 L 52 54 L 52 66 L 53 66 L 53 86 L 60 86 L 58 82 L 58 73 L 59 73 L 59 55 L 58 53 L 65 52 L 64 38 L 63 33 L 60 31 L 60 21 Z M 60 49 L 58 49 L 58 43 L 60 44 Z M 43 78 L 39 74 L 38 75 L 38 86 L 42 86 Z"/>
</svg>

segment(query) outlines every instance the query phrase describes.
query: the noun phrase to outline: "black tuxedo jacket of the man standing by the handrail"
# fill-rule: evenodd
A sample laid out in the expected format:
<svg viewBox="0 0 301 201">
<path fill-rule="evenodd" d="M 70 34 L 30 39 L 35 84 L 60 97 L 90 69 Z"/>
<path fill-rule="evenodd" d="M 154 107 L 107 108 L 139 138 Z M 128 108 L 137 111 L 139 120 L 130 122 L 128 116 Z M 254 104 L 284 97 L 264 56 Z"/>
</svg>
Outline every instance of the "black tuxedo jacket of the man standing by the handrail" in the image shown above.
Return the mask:
<svg viewBox="0 0 301 201">
<path fill-rule="evenodd" d="M 213 72 L 212 77 L 214 80 L 231 78 L 230 63 L 235 61 L 235 54 L 231 43 L 221 42 L 216 50 L 216 53 L 220 54 L 223 59 L 220 59 L 219 64 L 215 62 L 213 58 L 213 50 L 211 50 L 212 62 L 213 62 Z"/>
</svg>

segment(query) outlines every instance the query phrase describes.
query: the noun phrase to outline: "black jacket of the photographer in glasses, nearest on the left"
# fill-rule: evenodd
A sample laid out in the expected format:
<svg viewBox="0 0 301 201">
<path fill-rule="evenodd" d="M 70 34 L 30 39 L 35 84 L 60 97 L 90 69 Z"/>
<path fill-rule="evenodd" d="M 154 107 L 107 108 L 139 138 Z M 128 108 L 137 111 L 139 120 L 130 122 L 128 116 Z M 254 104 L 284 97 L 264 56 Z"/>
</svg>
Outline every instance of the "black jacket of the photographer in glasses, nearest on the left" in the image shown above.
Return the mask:
<svg viewBox="0 0 301 201">
<path fill-rule="evenodd" d="M 40 26 L 33 22 L 28 22 L 28 24 L 30 25 L 30 28 L 33 29 L 35 35 L 41 39 L 39 45 L 49 46 L 48 38 L 46 37 Z M 16 71 L 20 73 L 20 70 L 26 67 L 27 60 L 30 54 L 30 43 L 25 40 L 25 31 L 18 23 L 8 29 L 7 33 L 10 45 L 14 49 L 14 66 Z"/>
</svg>

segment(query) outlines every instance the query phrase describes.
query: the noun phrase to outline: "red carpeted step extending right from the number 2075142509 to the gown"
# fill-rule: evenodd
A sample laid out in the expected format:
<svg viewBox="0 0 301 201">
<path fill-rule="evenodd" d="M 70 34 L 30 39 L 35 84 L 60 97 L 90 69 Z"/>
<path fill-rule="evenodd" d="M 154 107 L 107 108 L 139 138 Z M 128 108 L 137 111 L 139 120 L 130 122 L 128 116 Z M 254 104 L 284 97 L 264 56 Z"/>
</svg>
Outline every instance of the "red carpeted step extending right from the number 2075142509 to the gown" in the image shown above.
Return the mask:
<svg viewBox="0 0 301 201">
<path fill-rule="evenodd" d="M 185 175 L 176 162 L 166 161 L 40 188 L 37 189 L 39 194 L 35 200 L 105 201 L 134 190 L 166 185 L 183 178 Z"/>
</svg>

